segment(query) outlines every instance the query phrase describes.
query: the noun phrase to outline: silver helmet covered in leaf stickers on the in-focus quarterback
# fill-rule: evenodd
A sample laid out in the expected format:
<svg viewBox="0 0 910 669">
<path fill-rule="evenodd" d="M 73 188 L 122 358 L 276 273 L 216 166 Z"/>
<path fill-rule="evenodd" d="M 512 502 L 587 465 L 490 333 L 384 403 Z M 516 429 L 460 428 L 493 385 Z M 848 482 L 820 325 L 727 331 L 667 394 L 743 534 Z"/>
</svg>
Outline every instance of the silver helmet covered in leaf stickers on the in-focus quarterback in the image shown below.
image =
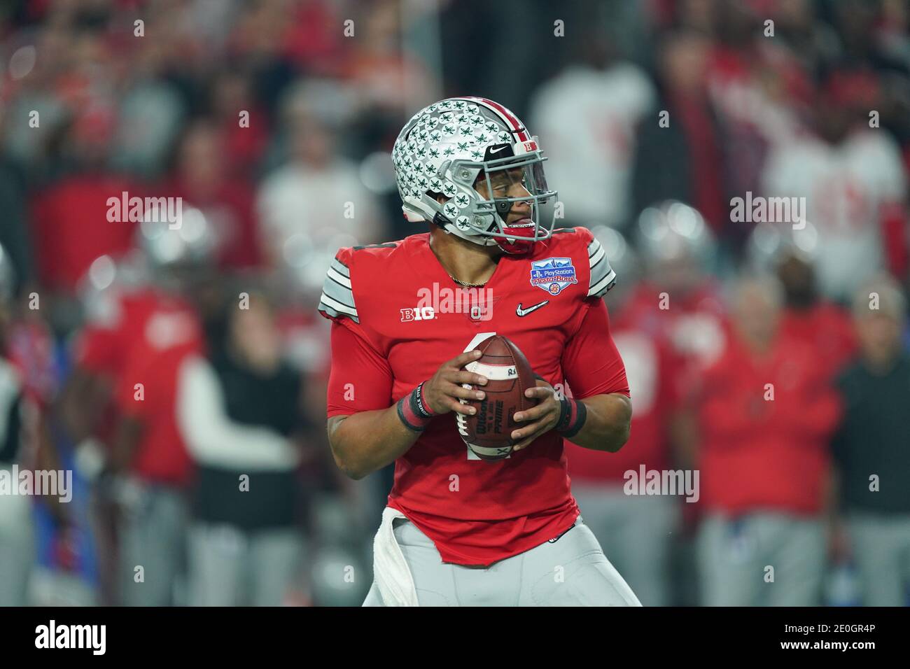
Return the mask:
<svg viewBox="0 0 910 669">
<path fill-rule="evenodd" d="M 547 187 L 537 137 L 518 117 L 484 97 L 451 97 L 421 109 L 401 129 L 392 161 L 405 218 L 430 220 L 481 246 L 523 253 L 550 238 L 556 191 Z M 522 197 L 496 197 L 490 177 L 521 169 Z M 482 180 L 485 198 L 475 188 Z M 442 201 L 440 202 L 440 199 Z M 506 225 L 515 202 L 531 216 Z"/>
</svg>

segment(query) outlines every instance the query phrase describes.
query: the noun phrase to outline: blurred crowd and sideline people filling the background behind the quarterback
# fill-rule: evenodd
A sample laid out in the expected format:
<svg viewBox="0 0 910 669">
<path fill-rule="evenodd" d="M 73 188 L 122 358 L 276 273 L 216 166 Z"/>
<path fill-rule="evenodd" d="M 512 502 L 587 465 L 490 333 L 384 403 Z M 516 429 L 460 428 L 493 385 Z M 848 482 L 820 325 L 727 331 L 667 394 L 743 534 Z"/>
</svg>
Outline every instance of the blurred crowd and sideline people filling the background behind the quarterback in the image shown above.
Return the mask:
<svg viewBox="0 0 910 669">
<path fill-rule="evenodd" d="M 0 496 L 0 605 L 362 601 L 390 472 L 330 457 L 316 304 L 339 247 L 425 231 L 389 151 L 457 95 L 619 276 L 632 439 L 567 458 L 642 603 L 907 603 L 910 2 L 20 0 L 0 468 L 76 484 Z M 676 470 L 697 501 L 629 492 Z"/>
</svg>

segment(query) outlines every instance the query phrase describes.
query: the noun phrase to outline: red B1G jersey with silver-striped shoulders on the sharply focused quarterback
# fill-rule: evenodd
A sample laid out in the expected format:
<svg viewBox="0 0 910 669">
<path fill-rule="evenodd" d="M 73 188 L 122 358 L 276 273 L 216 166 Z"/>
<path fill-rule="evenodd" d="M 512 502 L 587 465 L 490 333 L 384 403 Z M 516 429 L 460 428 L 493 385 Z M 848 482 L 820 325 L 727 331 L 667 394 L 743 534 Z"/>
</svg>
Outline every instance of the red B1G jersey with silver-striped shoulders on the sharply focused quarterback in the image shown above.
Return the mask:
<svg viewBox="0 0 910 669">
<path fill-rule="evenodd" d="M 342 248 L 319 303 L 335 321 L 329 417 L 389 408 L 493 333 L 511 339 L 554 387 L 570 383 L 577 398 L 628 394 L 601 299 L 614 279 L 585 228 L 558 230 L 527 256 L 501 257 L 473 291 L 442 268 L 429 234 Z M 430 537 L 443 561 L 469 565 L 530 550 L 579 513 L 557 432 L 483 461 L 461 440 L 454 413 L 430 421 L 396 461 L 389 506 Z"/>
</svg>

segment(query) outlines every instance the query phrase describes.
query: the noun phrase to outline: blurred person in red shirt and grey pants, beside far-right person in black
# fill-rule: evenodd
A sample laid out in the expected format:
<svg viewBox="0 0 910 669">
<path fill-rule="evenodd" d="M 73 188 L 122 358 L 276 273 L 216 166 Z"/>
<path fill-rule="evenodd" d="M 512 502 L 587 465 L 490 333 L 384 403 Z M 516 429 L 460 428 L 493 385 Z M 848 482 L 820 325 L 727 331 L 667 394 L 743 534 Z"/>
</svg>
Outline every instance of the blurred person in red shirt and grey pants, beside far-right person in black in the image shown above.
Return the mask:
<svg viewBox="0 0 910 669">
<path fill-rule="evenodd" d="M 703 374 L 703 603 L 814 605 L 824 572 L 828 440 L 839 403 L 810 343 L 779 329 L 783 290 L 745 279 L 734 333 Z"/>
</svg>

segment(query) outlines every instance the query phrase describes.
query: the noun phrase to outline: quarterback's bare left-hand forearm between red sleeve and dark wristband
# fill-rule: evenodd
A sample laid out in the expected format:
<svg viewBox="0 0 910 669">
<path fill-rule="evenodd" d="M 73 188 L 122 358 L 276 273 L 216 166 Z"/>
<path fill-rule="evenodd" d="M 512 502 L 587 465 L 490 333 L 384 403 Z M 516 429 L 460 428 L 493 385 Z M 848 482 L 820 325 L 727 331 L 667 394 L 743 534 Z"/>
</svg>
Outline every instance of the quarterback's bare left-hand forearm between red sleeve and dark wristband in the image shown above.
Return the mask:
<svg viewBox="0 0 910 669">
<path fill-rule="evenodd" d="M 419 436 L 402 424 L 394 405 L 329 419 L 335 463 L 352 479 L 362 479 L 396 461 Z"/>
</svg>

